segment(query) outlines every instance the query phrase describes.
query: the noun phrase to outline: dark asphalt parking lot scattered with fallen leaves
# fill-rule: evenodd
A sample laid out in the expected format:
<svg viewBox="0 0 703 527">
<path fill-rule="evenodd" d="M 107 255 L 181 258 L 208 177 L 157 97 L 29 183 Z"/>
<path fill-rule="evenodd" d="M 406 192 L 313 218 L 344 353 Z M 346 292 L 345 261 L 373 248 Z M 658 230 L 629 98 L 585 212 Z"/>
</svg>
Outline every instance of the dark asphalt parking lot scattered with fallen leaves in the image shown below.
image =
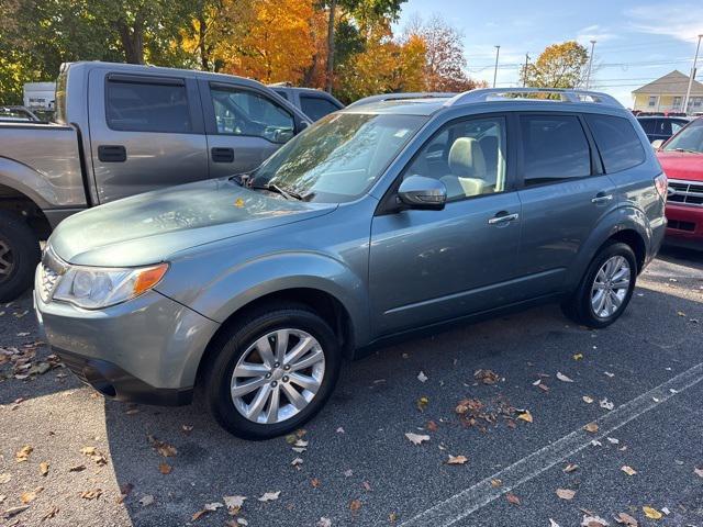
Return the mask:
<svg viewBox="0 0 703 527">
<path fill-rule="evenodd" d="M 665 250 L 604 330 L 545 306 L 348 363 L 263 442 L 198 402 L 104 401 L 35 344 L 29 296 L 0 313 L 3 526 L 703 526 L 702 254 Z"/>
</svg>

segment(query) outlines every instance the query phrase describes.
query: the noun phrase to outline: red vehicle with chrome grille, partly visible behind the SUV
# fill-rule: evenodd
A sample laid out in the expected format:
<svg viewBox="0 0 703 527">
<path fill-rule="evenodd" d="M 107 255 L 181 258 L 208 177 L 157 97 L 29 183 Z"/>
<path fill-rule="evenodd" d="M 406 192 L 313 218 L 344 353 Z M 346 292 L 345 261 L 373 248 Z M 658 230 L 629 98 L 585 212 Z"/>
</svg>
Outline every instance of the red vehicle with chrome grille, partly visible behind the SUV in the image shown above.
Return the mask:
<svg viewBox="0 0 703 527">
<path fill-rule="evenodd" d="M 667 243 L 703 249 L 703 117 L 657 152 L 669 179 Z"/>
</svg>

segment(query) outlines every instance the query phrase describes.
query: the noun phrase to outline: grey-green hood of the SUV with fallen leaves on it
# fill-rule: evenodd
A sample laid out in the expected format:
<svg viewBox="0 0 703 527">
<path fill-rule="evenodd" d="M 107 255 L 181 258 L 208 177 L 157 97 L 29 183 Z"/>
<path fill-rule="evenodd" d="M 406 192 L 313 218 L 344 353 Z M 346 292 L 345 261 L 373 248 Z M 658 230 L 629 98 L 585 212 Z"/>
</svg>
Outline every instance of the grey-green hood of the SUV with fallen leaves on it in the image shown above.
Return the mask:
<svg viewBox="0 0 703 527">
<path fill-rule="evenodd" d="M 64 220 L 49 238 L 63 260 L 133 267 L 197 245 L 327 214 L 336 204 L 287 201 L 226 178 L 134 195 Z"/>
</svg>

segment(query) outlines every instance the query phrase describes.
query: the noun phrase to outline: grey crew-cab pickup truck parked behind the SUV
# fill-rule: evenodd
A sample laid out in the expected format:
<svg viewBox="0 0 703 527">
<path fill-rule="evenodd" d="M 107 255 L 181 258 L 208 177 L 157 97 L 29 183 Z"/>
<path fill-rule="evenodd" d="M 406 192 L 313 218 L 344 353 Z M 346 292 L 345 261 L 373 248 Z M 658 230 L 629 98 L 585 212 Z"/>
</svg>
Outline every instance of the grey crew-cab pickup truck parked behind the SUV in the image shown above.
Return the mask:
<svg viewBox="0 0 703 527">
<path fill-rule="evenodd" d="M 310 123 L 254 80 L 98 61 L 63 67 L 56 111 L 0 122 L 0 301 L 32 284 L 40 239 L 65 217 L 252 170 Z"/>
</svg>

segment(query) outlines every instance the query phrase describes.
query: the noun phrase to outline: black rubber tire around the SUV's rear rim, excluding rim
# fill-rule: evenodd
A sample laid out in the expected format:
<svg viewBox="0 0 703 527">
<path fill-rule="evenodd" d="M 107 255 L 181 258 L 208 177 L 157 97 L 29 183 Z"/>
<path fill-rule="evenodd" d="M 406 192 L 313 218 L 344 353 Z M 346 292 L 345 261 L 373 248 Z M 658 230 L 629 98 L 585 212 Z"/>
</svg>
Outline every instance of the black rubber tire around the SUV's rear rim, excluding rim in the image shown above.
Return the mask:
<svg viewBox="0 0 703 527">
<path fill-rule="evenodd" d="M 612 315 L 606 317 L 596 316 L 593 307 L 591 306 L 591 288 L 593 287 L 595 274 L 599 272 L 601 267 L 614 256 L 622 256 L 629 265 L 629 289 L 627 290 L 625 298 L 622 300 L 620 307 Z M 576 292 L 562 302 L 561 311 L 573 322 L 587 327 L 595 329 L 607 327 L 620 318 L 627 309 L 627 304 L 635 291 L 636 280 L 637 259 L 635 258 L 633 249 L 627 244 L 620 242 L 606 244 L 599 250 L 589 265 Z"/>
</svg>

